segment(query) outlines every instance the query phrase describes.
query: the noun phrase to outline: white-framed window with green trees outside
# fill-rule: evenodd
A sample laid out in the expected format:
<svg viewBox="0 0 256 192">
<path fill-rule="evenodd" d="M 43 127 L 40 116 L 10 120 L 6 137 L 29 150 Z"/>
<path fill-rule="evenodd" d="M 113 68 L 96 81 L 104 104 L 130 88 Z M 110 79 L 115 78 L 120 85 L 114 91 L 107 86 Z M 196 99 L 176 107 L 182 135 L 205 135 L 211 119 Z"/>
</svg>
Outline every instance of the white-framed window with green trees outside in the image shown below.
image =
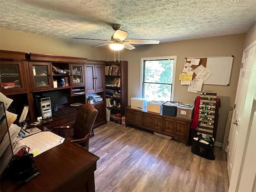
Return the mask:
<svg viewBox="0 0 256 192">
<path fill-rule="evenodd" d="M 176 56 L 142 58 L 142 97 L 173 101 Z"/>
</svg>

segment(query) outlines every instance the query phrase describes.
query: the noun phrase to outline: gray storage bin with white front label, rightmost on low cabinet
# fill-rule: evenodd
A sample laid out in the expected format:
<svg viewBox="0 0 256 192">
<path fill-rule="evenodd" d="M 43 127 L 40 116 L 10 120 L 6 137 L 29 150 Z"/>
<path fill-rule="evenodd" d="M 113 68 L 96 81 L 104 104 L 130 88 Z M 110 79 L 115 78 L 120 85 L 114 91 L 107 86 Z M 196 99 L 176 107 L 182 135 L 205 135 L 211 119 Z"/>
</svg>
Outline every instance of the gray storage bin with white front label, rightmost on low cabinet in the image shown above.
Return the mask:
<svg viewBox="0 0 256 192">
<path fill-rule="evenodd" d="M 194 104 L 188 104 L 188 103 L 179 103 L 177 105 L 177 118 L 181 119 L 192 119 L 192 112 L 194 109 Z"/>
</svg>

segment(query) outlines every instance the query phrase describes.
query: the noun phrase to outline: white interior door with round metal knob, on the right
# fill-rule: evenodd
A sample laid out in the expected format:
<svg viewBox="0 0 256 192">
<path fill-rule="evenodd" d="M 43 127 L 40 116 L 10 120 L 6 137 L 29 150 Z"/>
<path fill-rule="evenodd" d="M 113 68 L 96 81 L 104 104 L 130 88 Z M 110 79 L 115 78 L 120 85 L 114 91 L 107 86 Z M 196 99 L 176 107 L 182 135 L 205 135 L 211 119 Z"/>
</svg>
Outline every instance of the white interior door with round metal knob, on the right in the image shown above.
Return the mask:
<svg viewBox="0 0 256 192">
<path fill-rule="evenodd" d="M 235 107 L 227 146 L 227 166 L 230 180 L 230 191 L 237 190 L 237 183 L 241 176 L 241 164 L 244 160 L 246 140 L 248 139 L 249 117 L 252 110 L 253 95 L 255 92 L 255 43 L 245 50 L 242 67 L 236 92 Z M 251 75 L 253 74 L 253 75 Z"/>
</svg>

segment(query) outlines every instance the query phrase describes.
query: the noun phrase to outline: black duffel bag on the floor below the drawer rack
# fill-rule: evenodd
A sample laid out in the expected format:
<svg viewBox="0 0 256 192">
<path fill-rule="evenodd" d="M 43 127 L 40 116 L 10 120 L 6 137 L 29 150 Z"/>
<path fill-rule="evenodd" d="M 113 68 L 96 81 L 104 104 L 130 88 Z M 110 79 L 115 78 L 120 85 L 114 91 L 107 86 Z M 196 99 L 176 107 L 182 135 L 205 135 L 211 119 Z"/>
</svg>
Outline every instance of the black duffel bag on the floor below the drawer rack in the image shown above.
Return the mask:
<svg viewBox="0 0 256 192">
<path fill-rule="evenodd" d="M 205 144 L 200 142 L 200 140 L 204 140 L 206 142 L 208 142 L 209 144 Z M 209 159 L 209 160 L 214 160 L 215 156 L 214 156 L 214 141 L 212 140 L 212 138 L 210 137 L 210 141 L 202 138 L 202 135 L 200 135 L 198 137 L 198 140 L 193 140 L 193 144 L 192 144 L 192 148 L 191 148 L 191 152 Z"/>
</svg>

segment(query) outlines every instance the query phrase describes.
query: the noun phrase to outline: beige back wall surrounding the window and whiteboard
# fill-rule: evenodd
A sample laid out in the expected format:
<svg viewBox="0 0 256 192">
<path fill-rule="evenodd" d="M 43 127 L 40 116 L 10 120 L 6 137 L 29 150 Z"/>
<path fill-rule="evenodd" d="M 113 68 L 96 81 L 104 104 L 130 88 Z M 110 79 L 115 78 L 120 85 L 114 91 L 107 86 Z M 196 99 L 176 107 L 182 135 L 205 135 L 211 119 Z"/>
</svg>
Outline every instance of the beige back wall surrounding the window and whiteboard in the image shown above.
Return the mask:
<svg viewBox="0 0 256 192">
<path fill-rule="evenodd" d="M 218 36 L 160 43 L 158 45 L 137 46 L 134 50 L 120 52 L 120 59 L 128 61 L 128 104 L 130 104 L 130 98 L 140 96 L 140 58 L 177 56 L 174 101 L 193 103 L 194 98 L 200 93 L 187 92 L 188 86 L 180 85 L 178 80 L 178 74 L 182 73 L 184 68 L 184 59 L 186 57 L 234 55 L 230 85 L 203 85 L 202 88 L 202 90 L 216 90 L 217 96 L 221 100 L 216 141 L 222 143 L 228 111 L 232 110 L 234 106 L 244 38 L 245 34 Z"/>
</svg>

